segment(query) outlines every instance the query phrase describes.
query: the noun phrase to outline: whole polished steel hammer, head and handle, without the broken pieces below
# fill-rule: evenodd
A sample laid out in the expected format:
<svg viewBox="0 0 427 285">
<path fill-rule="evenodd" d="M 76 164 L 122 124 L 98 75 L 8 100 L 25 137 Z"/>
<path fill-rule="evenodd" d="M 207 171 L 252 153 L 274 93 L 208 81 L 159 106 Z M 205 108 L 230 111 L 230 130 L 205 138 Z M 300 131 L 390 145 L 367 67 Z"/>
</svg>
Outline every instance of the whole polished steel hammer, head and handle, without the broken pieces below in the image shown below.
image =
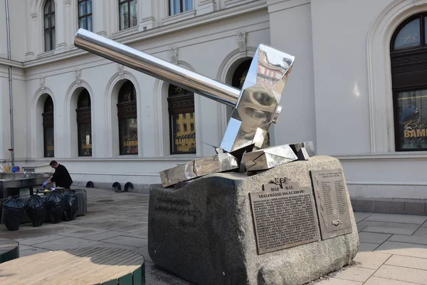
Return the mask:
<svg viewBox="0 0 427 285">
<path fill-rule="evenodd" d="M 255 144 L 260 148 L 281 110 L 280 97 L 295 57 L 260 44 L 242 90 L 188 71 L 96 33 L 78 30 L 75 46 L 194 93 L 236 107 L 221 148 L 233 152 Z"/>
</svg>

